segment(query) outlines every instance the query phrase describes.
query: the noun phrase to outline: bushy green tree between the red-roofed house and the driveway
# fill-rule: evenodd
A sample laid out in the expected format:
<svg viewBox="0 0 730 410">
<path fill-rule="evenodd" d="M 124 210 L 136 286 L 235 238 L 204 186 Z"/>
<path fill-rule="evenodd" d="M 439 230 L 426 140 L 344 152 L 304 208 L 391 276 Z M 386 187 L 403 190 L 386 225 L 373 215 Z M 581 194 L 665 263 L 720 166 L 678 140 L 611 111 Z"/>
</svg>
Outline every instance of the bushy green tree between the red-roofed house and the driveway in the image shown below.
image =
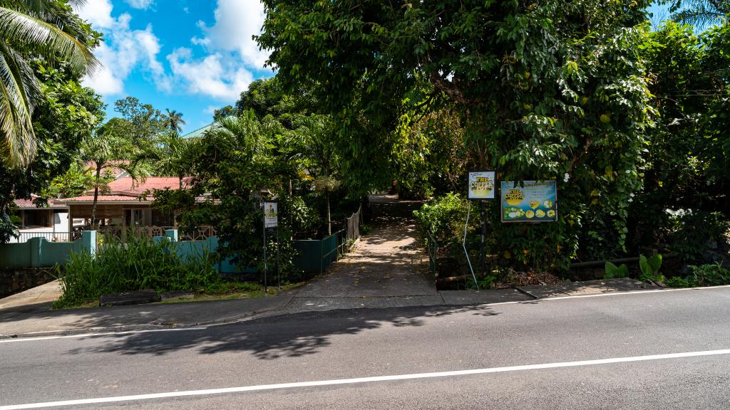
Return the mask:
<svg viewBox="0 0 730 410">
<path fill-rule="evenodd" d="M 158 191 L 155 206 L 180 212 L 180 228 L 215 226 L 222 258 L 240 266 L 261 260 L 261 190 L 277 190 L 266 136 L 251 113 L 215 123 L 191 152 L 193 177 L 185 190 Z M 196 200 L 196 198 L 198 198 Z"/>
</svg>

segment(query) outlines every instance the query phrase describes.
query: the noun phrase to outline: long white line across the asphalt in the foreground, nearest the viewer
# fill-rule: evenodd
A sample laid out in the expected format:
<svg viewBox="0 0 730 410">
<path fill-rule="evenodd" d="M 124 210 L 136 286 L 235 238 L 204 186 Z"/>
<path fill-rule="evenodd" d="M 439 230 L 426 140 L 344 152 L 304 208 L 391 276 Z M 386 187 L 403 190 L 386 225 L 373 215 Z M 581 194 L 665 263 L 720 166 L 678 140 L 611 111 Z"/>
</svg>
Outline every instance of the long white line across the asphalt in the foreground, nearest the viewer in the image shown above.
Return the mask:
<svg viewBox="0 0 730 410">
<path fill-rule="evenodd" d="M 79 400 L 50 401 L 50 402 L 45 402 L 45 403 L 14 404 L 14 405 L 10 405 L 10 406 L 0 406 L 0 410 L 41 409 L 44 407 L 80 406 L 83 404 L 114 403 L 114 402 L 119 402 L 119 401 L 142 401 L 142 400 L 151 400 L 151 399 L 155 399 L 155 398 L 173 398 L 173 397 L 185 397 L 185 396 L 196 396 L 196 395 L 220 395 L 220 394 L 237 393 L 237 392 L 255 392 L 255 391 L 261 391 L 261 390 L 291 389 L 291 388 L 296 388 L 296 387 L 318 387 L 318 386 L 332 386 L 332 385 L 336 385 L 336 384 L 358 384 L 358 383 L 372 383 L 372 382 L 388 382 L 388 381 L 393 381 L 393 380 L 429 379 L 429 378 L 434 378 L 434 377 L 468 376 L 468 375 L 473 375 L 473 374 L 504 373 L 507 371 L 526 371 L 526 370 L 539 370 L 539 369 L 545 369 L 545 368 L 565 368 L 565 367 L 588 366 L 588 365 L 605 365 L 605 364 L 611 364 L 611 363 L 642 362 L 642 361 L 647 361 L 647 360 L 665 360 L 665 359 L 677 359 L 677 358 L 682 358 L 682 357 L 699 357 L 699 356 L 714 356 L 714 355 L 730 355 L 730 349 L 707 350 L 704 352 L 669 353 L 667 355 L 614 357 L 614 358 L 610 358 L 610 359 L 582 360 L 579 362 L 544 363 L 544 364 L 539 364 L 539 365 L 517 365 L 517 366 L 496 367 L 496 368 L 477 368 L 477 369 L 472 369 L 472 370 L 441 371 L 441 372 L 437 372 L 437 373 L 399 374 L 399 375 L 394 375 L 394 376 L 360 377 L 357 379 L 334 379 L 334 380 L 320 380 L 317 382 L 259 384 L 257 386 L 228 387 L 228 388 L 223 388 L 223 389 L 188 390 L 188 391 L 182 391 L 182 392 L 164 392 L 164 393 L 152 393 L 152 394 L 146 394 L 146 395 L 126 395 L 126 396 L 107 397 L 107 398 L 85 398 L 85 399 L 79 399 Z"/>
</svg>

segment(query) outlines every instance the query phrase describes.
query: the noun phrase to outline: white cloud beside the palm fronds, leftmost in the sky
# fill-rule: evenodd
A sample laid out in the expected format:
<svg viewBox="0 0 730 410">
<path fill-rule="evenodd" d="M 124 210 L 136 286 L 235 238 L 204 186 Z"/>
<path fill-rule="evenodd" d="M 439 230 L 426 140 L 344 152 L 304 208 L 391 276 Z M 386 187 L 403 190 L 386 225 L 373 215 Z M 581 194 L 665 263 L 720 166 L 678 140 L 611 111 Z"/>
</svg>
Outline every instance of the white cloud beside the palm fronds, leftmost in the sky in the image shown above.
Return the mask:
<svg viewBox="0 0 730 410">
<path fill-rule="evenodd" d="M 124 92 L 124 80 L 139 67 L 151 77 L 158 90 L 172 90 L 172 80 L 157 59 L 160 42 L 151 25 L 144 30 L 132 30 L 129 27 L 130 15 L 124 13 L 118 18 L 112 17 L 109 0 L 87 1 L 77 12 L 104 33 L 104 42 L 94 50 L 103 68 L 85 77 L 84 85 L 107 96 L 119 95 Z"/>
</svg>

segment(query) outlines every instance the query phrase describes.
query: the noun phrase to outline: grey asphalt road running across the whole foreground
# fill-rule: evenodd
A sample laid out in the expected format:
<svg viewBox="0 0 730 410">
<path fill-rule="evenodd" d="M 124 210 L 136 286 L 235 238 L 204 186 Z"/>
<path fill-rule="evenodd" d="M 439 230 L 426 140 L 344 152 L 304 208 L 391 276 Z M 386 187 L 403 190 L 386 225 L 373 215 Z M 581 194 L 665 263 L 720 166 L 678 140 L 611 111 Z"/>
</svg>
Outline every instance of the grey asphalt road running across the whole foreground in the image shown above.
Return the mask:
<svg viewBox="0 0 730 410">
<path fill-rule="evenodd" d="M 0 343 L 0 409 L 99 398 L 53 408 L 728 409 L 730 287 Z"/>
</svg>

